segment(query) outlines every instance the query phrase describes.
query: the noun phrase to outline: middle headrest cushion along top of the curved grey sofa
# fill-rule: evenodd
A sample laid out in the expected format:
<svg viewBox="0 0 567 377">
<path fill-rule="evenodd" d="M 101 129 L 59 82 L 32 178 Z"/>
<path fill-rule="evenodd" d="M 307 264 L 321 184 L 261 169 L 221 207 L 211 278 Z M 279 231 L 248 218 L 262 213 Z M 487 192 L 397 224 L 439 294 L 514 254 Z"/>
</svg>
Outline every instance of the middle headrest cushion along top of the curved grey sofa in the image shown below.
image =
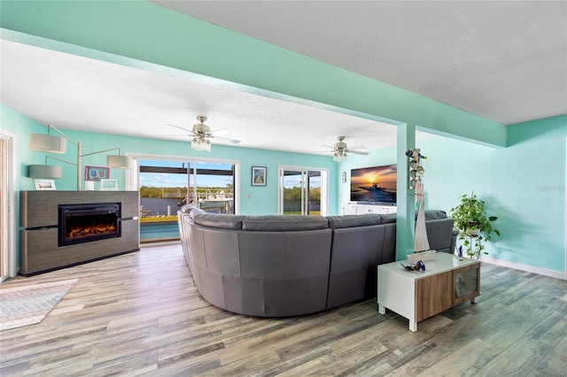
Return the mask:
<svg viewBox="0 0 567 377">
<path fill-rule="evenodd" d="M 285 232 L 289 230 L 314 230 L 329 227 L 322 216 L 303 215 L 258 215 L 242 219 L 243 230 Z"/>
</svg>

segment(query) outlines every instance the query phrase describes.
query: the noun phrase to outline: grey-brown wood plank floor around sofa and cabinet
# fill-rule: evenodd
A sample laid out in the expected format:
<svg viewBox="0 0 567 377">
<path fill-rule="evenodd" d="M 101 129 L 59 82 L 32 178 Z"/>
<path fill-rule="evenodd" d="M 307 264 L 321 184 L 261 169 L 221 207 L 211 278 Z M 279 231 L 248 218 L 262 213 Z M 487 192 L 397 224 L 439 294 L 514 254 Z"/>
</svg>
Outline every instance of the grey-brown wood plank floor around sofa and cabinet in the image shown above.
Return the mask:
<svg viewBox="0 0 567 377">
<path fill-rule="evenodd" d="M 15 278 L 79 278 L 38 325 L 0 332 L 0 375 L 567 375 L 567 281 L 495 265 L 466 302 L 408 330 L 375 300 L 289 319 L 224 312 L 165 244 Z"/>
</svg>

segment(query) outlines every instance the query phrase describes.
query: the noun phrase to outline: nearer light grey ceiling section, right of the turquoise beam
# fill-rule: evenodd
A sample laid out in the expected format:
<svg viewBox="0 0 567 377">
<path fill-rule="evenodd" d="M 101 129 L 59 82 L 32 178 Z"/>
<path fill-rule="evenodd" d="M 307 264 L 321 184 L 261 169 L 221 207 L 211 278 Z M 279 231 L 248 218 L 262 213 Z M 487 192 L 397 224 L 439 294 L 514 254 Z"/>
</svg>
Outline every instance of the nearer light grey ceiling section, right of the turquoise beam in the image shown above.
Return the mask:
<svg viewBox="0 0 567 377">
<path fill-rule="evenodd" d="M 502 124 L 567 113 L 565 1 L 153 1 Z"/>
</svg>

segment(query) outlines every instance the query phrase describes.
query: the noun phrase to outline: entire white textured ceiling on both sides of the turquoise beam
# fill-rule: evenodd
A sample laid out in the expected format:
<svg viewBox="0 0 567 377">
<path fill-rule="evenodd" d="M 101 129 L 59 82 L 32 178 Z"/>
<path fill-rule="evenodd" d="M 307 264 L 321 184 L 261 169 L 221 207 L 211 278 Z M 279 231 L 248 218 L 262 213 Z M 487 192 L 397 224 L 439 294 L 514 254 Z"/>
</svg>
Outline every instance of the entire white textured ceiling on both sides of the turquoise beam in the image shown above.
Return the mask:
<svg viewBox="0 0 567 377">
<path fill-rule="evenodd" d="M 566 2 L 154 3 L 503 124 L 567 113 Z M 395 145 L 395 127 L 371 119 L 18 42 L 0 52 L 2 103 L 43 124 L 190 140 L 168 125 L 206 115 L 244 147 Z"/>
</svg>

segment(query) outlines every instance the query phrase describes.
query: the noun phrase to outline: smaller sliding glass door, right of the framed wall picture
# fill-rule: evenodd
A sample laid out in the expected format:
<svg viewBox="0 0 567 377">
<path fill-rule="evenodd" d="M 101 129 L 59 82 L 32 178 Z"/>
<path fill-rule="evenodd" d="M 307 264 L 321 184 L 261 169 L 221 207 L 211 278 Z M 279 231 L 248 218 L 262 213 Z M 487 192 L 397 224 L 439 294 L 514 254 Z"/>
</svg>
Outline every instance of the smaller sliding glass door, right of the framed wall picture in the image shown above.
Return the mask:
<svg viewBox="0 0 567 377">
<path fill-rule="evenodd" d="M 280 166 L 279 178 L 280 214 L 327 214 L 326 170 Z"/>
</svg>

